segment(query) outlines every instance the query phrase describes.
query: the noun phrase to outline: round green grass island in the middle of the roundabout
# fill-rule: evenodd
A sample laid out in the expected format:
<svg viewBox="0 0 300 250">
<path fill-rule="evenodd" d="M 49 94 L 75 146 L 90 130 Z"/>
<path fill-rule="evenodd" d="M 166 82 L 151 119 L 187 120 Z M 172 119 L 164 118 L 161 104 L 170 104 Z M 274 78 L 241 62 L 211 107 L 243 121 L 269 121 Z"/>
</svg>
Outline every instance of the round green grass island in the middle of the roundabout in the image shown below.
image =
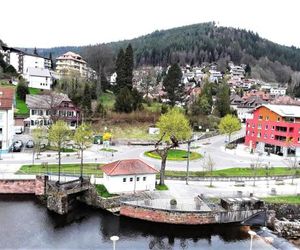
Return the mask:
<svg viewBox="0 0 300 250">
<path fill-rule="evenodd" d="M 145 156 L 154 158 L 154 159 L 161 159 L 161 157 L 153 151 L 147 151 L 144 153 Z M 202 157 L 201 154 L 196 152 L 190 152 L 190 160 L 200 159 Z M 168 152 L 167 160 L 169 161 L 186 161 L 187 159 L 187 151 L 182 149 L 170 149 Z"/>
</svg>

